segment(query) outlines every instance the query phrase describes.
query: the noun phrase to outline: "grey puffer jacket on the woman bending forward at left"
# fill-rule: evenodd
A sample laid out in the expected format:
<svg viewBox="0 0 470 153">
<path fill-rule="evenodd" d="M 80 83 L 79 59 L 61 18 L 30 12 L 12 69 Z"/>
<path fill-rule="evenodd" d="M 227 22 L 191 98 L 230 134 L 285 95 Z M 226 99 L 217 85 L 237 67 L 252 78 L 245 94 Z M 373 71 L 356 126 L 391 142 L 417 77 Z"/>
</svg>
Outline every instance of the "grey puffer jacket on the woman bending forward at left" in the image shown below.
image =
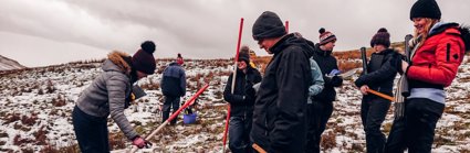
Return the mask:
<svg viewBox="0 0 470 153">
<path fill-rule="evenodd" d="M 124 114 L 125 99 L 130 95 L 130 66 L 123 59 L 126 53 L 114 51 L 103 63 L 103 73 L 80 95 L 76 106 L 94 117 L 107 117 L 117 123 L 121 131 L 133 139 L 137 136 Z"/>
</svg>

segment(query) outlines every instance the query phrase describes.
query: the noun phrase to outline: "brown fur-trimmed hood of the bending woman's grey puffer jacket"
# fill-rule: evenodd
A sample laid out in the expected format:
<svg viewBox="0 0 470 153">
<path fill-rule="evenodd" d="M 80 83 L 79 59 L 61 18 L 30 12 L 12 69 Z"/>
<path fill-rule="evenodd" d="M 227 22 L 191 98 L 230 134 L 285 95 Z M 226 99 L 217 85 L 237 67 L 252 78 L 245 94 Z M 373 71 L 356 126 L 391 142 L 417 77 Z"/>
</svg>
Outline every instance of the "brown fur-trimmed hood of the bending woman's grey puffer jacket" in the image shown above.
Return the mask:
<svg viewBox="0 0 470 153">
<path fill-rule="evenodd" d="M 121 51 L 113 51 L 109 54 L 107 54 L 107 59 L 103 63 L 103 70 L 115 70 L 115 72 L 122 72 L 126 75 L 130 75 L 132 67 L 128 62 L 126 62 L 125 58 L 130 59 L 129 54 L 121 52 Z M 130 61 L 129 61 L 130 62 Z"/>
</svg>

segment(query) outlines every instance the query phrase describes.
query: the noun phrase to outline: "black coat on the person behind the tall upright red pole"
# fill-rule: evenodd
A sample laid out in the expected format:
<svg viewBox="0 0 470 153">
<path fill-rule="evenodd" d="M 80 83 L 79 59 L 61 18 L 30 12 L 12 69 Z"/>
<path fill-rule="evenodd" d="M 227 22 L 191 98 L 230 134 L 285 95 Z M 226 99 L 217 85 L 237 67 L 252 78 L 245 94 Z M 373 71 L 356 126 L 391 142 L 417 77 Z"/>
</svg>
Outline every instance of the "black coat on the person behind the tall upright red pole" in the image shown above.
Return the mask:
<svg viewBox="0 0 470 153">
<path fill-rule="evenodd" d="M 230 103 L 230 116 L 251 118 L 255 100 L 253 85 L 261 81 L 261 74 L 251 66 L 247 66 L 247 74 L 238 69 L 233 94 L 231 94 L 232 77 L 233 74 L 230 74 L 223 90 L 223 99 Z"/>
</svg>

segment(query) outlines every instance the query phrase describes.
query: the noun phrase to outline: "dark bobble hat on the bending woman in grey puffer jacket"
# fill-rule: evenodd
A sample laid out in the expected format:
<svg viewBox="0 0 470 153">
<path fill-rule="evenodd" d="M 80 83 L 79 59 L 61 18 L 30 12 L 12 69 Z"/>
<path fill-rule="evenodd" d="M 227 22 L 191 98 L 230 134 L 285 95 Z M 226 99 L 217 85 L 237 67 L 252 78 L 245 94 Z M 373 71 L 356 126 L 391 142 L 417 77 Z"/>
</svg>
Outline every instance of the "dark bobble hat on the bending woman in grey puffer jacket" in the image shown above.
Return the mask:
<svg viewBox="0 0 470 153">
<path fill-rule="evenodd" d="M 133 58 L 133 67 L 136 70 L 152 75 L 155 73 L 156 62 L 153 53 L 155 52 L 155 44 L 152 41 L 146 41 L 140 45 L 142 50 L 138 50 Z"/>
</svg>

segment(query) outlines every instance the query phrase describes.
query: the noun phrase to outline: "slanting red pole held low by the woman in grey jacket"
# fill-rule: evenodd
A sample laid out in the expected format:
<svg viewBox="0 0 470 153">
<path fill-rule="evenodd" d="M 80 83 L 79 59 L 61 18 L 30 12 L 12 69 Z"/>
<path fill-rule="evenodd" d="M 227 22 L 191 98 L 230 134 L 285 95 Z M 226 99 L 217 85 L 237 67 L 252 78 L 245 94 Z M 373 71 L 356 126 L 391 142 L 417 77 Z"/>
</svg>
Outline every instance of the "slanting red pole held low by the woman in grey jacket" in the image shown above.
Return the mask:
<svg viewBox="0 0 470 153">
<path fill-rule="evenodd" d="M 182 109 L 187 108 L 190 103 L 192 103 L 192 101 L 199 97 L 199 95 L 201 95 L 203 92 L 203 90 L 207 89 L 207 87 L 209 87 L 209 84 L 206 84 L 201 89 L 198 90 L 198 92 L 196 92 L 195 96 L 191 97 L 191 99 L 187 100 L 185 102 L 185 105 L 182 105 L 175 113 L 171 114 L 171 117 L 169 117 L 164 123 L 161 123 L 156 130 L 154 130 L 149 135 L 145 136 L 146 140 L 150 140 L 155 134 L 157 134 L 158 131 L 160 131 L 165 125 L 167 125 L 173 119 L 175 119 L 176 117 L 178 117 L 179 112 L 181 112 Z M 130 153 L 134 153 L 138 150 L 137 146 L 133 146 L 133 149 L 130 150 Z"/>
</svg>

